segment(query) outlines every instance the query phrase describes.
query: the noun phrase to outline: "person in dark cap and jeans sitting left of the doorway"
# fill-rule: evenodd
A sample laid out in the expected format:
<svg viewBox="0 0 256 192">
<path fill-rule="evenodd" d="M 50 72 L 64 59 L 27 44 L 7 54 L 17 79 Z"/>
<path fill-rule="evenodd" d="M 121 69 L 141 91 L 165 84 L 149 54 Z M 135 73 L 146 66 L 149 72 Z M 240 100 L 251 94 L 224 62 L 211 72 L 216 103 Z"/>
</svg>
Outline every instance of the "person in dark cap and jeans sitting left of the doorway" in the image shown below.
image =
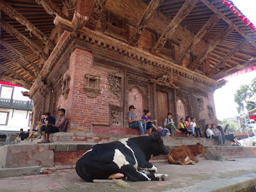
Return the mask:
<svg viewBox="0 0 256 192">
<path fill-rule="evenodd" d="M 134 106 L 129 106 L 129 113 L 128 113 L 128 121 L 129 121 L 129 127 L 132 127 L 132 128 L 138 128 L 140 129 L 140 134 L 141 135 L 146 135 L 146 124 L 142 124 L 142 122 L 140 121 L 140 119 L 135 119 L 134 117 Z"/>
</svg>

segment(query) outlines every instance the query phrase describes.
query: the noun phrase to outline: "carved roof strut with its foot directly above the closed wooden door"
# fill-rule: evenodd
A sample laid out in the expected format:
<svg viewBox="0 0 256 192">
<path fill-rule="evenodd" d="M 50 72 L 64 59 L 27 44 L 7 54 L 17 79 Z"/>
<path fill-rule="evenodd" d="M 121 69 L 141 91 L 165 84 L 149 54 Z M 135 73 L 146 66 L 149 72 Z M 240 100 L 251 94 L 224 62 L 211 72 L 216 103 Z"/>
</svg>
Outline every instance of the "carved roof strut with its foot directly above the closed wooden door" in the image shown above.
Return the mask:
<svg viewBox="0 0 256 192">
<path fill-rule="evenodd" d="M 160 38 L 157 40 L 151 52 L 159 52 L 160 49 L 164 47 L 168 37 L 174 33 L 175 29 L 178 28 L 180 22 L 182 22 L 182 20 L 184 20 L 189 15 L 189 13 L 195 7 L 197 1 L 198 0 L 186 0 L 186 2 L 182 5 L 182 8 L 180 8 L 177 15 L 175 15 L 175 17 L 170 22 L 168 27 L 164 30 Z"/>
</svg>

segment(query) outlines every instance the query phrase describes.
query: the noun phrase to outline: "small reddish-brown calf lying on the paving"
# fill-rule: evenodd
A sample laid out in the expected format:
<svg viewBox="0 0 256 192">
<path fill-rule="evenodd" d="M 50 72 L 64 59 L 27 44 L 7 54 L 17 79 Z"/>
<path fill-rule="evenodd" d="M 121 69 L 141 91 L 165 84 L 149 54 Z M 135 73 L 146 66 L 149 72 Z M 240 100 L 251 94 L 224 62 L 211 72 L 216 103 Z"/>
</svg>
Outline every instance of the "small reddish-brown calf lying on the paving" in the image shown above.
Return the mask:
<svg viewBox="0 0 256 192">
<path fill-rule="evenodd" d="M 198 163 L 196 156 L 205 154 L 207 151 L 200 143 L 196 145 L 181 145 L 173 148 L 167 155 L 169 163 L 172 164 L 195 164 Z"/>
</svg>

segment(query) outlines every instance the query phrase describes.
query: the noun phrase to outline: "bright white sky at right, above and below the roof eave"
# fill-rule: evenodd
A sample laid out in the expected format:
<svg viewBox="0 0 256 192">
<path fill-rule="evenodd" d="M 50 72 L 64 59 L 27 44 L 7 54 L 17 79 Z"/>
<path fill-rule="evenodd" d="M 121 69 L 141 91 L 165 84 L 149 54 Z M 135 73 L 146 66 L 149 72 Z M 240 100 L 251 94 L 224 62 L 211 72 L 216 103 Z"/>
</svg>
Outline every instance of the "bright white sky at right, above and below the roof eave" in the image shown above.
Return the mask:
<svg viewBox="0 0 256 192">
<path fill-rule="evenodd" d="M 235 6 L 256 26 L 256 0 L 232 0 Z M 214 102 L 217 118 L 234 117 L 237 113 L 237 104 L 234 102 L 234 94 L 242 84 L 250 84 L 256 77 L 256 71 L 241 74 L 235 77 L 229 77 L 225 86 L 216 90 L 214 93 Z"/>
</svg>

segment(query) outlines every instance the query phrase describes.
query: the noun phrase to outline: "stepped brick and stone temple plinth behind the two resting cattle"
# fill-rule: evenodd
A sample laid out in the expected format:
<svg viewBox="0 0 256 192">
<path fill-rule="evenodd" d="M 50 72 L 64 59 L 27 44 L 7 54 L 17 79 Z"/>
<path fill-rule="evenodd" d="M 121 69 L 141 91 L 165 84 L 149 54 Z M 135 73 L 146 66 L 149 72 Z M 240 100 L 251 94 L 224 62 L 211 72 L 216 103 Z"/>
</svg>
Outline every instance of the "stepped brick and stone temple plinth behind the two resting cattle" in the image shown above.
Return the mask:
<svg viewBox="0 0 256 192">
<path fill-rule="evenodd" d="M 134 134 L 88 134 L 81 132 L 57 132 L 51 134 L 51 143 L 4 145 L 0 147 L 0 171 L 8 168 L 41 166 L 42 168 L 74 168 L 76 162 L 97 143 L 107 143 L 122 138 L 132 138 Z M 206 150 L 222 157 L 251 157 L 256 155 L 256 147 L 218 146 L 213 139 L 162 137 L 168 150 L 180 145 L 202 143 Z M 154 162 L 166 162 L 167 156 L 150 159 Z"/>
</svg>

